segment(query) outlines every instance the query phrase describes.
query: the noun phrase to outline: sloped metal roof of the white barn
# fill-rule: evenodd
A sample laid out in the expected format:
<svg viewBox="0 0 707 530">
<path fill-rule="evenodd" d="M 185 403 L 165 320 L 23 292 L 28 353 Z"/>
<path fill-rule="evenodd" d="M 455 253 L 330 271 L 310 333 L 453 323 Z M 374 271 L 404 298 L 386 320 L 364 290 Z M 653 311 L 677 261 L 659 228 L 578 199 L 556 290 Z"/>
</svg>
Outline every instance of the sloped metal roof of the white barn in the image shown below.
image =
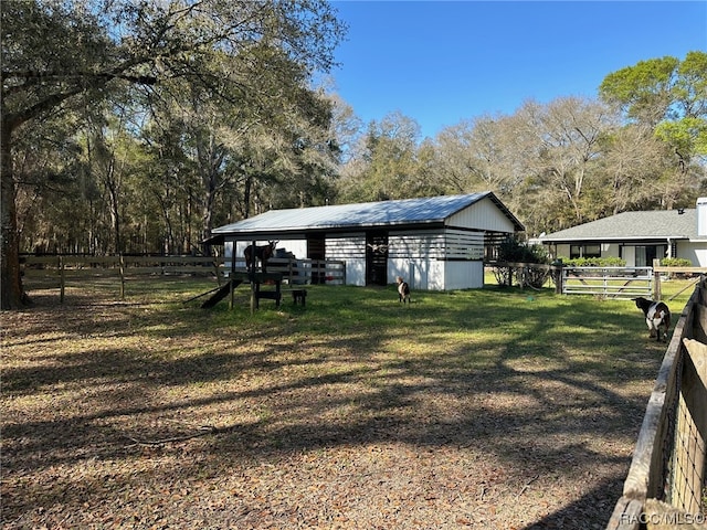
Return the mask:
<svg viewBox="0 0 707 530">
<path fill-rule="evenodd" d="M 219 226 L 212 233 L 217 237 L 226 234 L 256 235 L 258 233 L 284 235 L 313 230 L 346 232 L 361 227 L 439 224 L 444 223 L 454 213 L 486 198 L 494 201 L 518 231 L 525 230 L 496 195 L 486 191 L 465 195 L 271 210 L 254 218 Z"/>
</svg>

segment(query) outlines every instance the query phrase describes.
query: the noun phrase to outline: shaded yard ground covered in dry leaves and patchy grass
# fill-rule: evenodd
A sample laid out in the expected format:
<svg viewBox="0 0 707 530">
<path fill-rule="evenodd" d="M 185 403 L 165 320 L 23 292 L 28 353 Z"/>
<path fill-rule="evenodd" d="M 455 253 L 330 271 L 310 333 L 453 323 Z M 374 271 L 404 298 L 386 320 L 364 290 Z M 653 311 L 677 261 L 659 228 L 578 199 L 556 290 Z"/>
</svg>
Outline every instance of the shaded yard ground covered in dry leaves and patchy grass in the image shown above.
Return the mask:
<svg viewBox="0 0 707 530">
<path fill-rule="evenodd" d="M 3 528 L 605 526 L 665 350 L 631 303 L 207 288 L 0 315 Z"/>
</svg>

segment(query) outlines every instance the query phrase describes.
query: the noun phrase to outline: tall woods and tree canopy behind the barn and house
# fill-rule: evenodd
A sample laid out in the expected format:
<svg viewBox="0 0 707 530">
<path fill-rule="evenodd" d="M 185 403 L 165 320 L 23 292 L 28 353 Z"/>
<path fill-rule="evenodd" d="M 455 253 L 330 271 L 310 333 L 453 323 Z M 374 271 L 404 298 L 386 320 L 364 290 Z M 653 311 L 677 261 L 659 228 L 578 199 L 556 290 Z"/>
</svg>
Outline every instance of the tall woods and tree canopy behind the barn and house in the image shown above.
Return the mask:
<svg viewBox="0 0 707 530">
<path fill-rule="evenodd" d="M 707 193 L 704 52 L 422 139 L 315 86 L 346 32 L 327 2 L 0 9 L 3 308 L 21 304 L 20 252 L 203 252 L 212 227 L 273 208 L 490 190 L 532 236 Z"/>
</svg>

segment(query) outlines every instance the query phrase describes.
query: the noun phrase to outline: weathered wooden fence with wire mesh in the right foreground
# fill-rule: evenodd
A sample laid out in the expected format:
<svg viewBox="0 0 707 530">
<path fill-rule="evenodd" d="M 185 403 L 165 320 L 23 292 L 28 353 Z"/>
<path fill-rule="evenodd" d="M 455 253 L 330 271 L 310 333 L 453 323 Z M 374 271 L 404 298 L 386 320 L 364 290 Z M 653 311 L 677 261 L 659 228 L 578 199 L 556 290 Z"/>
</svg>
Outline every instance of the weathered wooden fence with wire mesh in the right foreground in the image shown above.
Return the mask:
<svg viewBox="0 0 707 530">
<path fill-rule="evenodd" d="M 703 277 L 663 358 L 623 495 L 606 529 L 697 528 L 687 524 L 705 522 L 706 437 L 707 285 Z"/>
</svg>

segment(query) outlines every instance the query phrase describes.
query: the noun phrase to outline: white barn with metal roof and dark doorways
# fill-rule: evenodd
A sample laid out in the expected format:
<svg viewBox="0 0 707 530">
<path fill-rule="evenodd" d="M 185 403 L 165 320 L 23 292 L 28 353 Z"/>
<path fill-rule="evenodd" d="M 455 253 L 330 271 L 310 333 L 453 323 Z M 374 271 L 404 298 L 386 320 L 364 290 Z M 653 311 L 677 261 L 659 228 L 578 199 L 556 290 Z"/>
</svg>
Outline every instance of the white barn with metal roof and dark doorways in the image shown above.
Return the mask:
<svg viewBox="0 0 707 530">
<path fill-rule="evenodd" d="M 256 241 L 277 240 L 297 258 L 346 262 L 349 285 L 387 285 L 402 276 L 414 289 L 478 288 L 484 257 L 525 231 L 492 192 L 272 210 L 220 226 L 210 242 L 226 259 Z"/>
</svg>

